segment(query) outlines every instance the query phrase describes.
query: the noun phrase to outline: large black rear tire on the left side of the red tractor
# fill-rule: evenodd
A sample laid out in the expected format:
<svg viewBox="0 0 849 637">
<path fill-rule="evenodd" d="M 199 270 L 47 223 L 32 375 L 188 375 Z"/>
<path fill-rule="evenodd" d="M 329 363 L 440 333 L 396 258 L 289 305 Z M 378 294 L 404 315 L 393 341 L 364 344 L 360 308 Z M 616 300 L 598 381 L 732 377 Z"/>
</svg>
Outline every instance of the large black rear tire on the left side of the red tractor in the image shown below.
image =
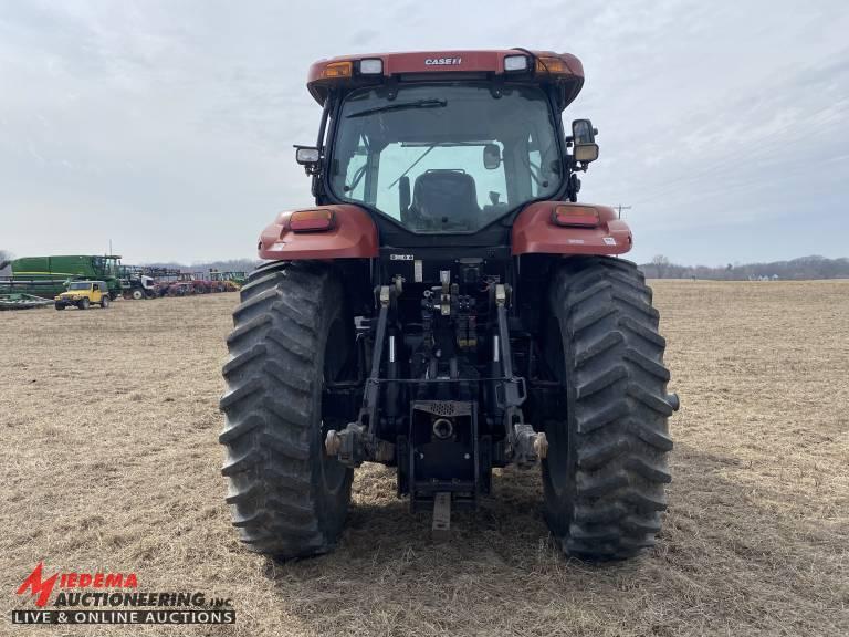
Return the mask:
<svg viewBox="0 0 849 637">
<path fill-rule="evenodd" d="M 233 525 L 248 547 L 305 557 L 335 546 L 354 471 L 324 452 L 325 379 L 339 379 L 353 318 L 329 267 L 272 263 L 253 272 L 233 312 L 223 367 L 222 473 Z"/>
</svg>

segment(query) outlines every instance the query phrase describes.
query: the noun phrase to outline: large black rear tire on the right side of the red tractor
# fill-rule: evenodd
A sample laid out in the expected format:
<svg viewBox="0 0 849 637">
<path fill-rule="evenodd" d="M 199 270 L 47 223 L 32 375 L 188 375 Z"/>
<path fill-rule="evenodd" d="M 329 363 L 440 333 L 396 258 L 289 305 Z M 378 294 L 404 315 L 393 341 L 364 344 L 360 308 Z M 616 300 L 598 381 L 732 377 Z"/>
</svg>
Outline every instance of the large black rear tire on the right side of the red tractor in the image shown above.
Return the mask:
<svg viewBox="0 0 849 637">
<path fill-rule="evenodd" d="M 623 558 L 654 545 L 672 449 L 669 372 L 651 289 L 619 259 L 574 259 L 554 276 L 546 352 L 566 418 L 546 424 L 545 510 L 564 551 Z"/>
</svg>

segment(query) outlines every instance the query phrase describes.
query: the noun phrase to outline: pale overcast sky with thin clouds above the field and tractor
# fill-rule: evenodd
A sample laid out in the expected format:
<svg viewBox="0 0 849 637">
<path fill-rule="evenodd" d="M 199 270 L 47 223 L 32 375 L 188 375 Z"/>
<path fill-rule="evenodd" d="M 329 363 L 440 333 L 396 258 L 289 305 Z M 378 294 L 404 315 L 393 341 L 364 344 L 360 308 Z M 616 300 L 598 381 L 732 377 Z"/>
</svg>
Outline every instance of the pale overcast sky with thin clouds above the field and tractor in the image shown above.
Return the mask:
<svg viewBox="0 0 849 637">
<path fill-rule="evenodd" d="M 127 263 L 253 257 L 311 203 L 310 63 L 525 46 L 584 62 L 564 118 L 601 156 L 580 198 L 630 205 L 631 258 L 845 257 L 842 1 L 0 0 L 0 249 Z"/>
</svg>

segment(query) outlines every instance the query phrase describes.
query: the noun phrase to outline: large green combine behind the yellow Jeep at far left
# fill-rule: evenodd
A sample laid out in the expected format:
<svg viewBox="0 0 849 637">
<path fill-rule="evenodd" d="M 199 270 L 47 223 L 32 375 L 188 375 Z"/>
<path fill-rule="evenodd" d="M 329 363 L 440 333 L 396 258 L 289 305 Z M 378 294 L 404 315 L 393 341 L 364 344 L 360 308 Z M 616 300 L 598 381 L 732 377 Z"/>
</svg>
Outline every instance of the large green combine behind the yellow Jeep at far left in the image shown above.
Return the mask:
<svg viewBox="0 0 849 637">
<path fill-rule="evenodd" d="M 53 299 L 64 292 L 71 281 L 105 281 L 111 299 L 122 293 L 120 257 L 117 254 L 22 257 L 9 264 L 12 275 L 0 279 L 0 293 Z M 0 269 L 6 265 L 0 263 Z"/>
</svg>

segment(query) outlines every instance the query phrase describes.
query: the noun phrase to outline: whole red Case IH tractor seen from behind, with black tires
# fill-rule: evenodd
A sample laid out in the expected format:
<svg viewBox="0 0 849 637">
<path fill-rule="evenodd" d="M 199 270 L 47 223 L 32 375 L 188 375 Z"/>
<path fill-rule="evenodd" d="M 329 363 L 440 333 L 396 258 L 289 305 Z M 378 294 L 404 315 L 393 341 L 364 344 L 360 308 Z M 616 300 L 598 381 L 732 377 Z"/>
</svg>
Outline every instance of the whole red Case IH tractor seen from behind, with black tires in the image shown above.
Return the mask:
<svg viewBox="0 0 849 637">
<path fill-rule="evenodd" d="M 678 398 L 617 258 L 628 226 L 577 202 L 597 132 L 560 114 L 583 83 L 577 58 L 525 49 L 313 64 L 315 206 L 260 236 L 227 340 L 222 472 L 250 549 L 331 550 L 366 461 L 434 530 L 493 468 L 541 466 L 568 554 L 653 545 Z"/>
</svg>

